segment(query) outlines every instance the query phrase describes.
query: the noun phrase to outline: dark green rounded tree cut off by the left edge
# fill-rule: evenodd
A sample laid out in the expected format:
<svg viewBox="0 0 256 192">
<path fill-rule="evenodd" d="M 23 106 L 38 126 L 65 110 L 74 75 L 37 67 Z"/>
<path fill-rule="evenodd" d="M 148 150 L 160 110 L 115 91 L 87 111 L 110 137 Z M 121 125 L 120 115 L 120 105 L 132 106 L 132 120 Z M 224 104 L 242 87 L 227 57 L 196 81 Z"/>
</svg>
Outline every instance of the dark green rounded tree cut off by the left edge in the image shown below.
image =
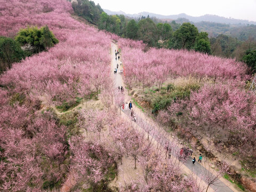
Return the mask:
<svg viewBox="0 0 256 192">
<path fill-rule="evenodd" d="M 12 67 L 13 62 L 25 58 L 20 45 L 11 38 L 0 36 L 0 74 Z"/>
</svg>

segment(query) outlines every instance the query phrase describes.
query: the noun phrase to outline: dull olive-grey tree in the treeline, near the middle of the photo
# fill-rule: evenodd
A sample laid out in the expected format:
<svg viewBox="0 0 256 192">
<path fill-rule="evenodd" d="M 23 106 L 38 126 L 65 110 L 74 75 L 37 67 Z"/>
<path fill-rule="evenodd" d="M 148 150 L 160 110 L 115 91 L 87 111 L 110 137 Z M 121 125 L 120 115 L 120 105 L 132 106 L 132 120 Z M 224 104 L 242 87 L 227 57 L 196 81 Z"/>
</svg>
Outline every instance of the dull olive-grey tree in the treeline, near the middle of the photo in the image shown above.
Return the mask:
<svg viewBox="0 0 256 192">
<path fill-rule="evenodd" d="M 149 46 L 155 46 L 158 41 L 156 25 L 150 18 L 139 21 L 137 34 L 138 38 Z"/>
</svg>

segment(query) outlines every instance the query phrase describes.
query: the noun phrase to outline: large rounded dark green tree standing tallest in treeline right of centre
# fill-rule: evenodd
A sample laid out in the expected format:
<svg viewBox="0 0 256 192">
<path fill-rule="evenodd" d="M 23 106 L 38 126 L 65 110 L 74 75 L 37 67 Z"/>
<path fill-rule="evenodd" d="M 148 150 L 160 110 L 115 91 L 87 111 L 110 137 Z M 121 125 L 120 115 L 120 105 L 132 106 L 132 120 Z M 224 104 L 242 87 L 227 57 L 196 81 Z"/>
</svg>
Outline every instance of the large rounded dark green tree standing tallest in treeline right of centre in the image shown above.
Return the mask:
<svg viewBox="0 0 256 192">
<path fill-rule="evenodd" d="M 198 30 L 194 25 L 189 22 L 183 23 L 181 27 L 174 32 L 174 48 L 187 50 L 192 49 L 197 35 Z"/>
</svg>

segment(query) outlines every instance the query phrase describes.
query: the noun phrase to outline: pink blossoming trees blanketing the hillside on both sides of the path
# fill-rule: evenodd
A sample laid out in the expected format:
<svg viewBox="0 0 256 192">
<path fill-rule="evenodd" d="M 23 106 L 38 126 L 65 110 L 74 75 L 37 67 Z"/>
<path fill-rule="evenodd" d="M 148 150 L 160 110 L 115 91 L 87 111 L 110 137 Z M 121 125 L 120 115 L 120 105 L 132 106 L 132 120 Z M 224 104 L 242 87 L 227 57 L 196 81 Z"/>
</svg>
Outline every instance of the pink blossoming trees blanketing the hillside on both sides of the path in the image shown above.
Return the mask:
<svg viewBox="0 0 256 192">
<path fill-rule="evenodd" d="M 14 37 L 20 28 L 47 25 L 60 41 L 47 52 L 14 63 L 0 76 L 2 191 L 58 190 L 70 172 L 74 173 L 79 184 L 85 182 L 96 189 L 99 183 L 106 185 L 109 169 L 119 158 L 122 164 L 126 155 L 134 159 L 135 167 L 142 167 L 143 177 L 140 182 L 120 186 L 120 190 L 199 190 L 193 178 L 182 178 L 177 159 L 163 158 L 162 154 L 167 153 L 161 146 L 163 143 L 155 150 L 151 142 L 145 140 L 145 133 L 125 121 L 115 120 L 114 115 L 117 114 L 111 111 L 111 107 L 108 111 L 81 110 L 71 113 L 73 119 L 67 123 L 63 123 L 52 110 L 52 106 L 74 103 L 77 98 L 98 94 L 102 88 L 104 94 L 101 98 L 107 95 L 109 106 L 113 104 L 114 97 L 116 103 L 119 102 L 117 109 L 121 106 L 124 97 L 115 95 L 109 75 L 109 51 L 113 38 L 118 39 L 122 49 L 125 83 L 129 89 L 136 81 L 143 88 L 154 84 L 161 87 L 167 78 L 178 76 L 193 76 L 198 82 L 211 79 L 212 83 L 227 84 L 215 87 L 205 83 L 201 89 L 191 91 L 187 101 L 177 100 L 167 110 L 159 111 L 161 121 L 171 121 L 177 118 L 173 116 L 173 111 L 182 111 L 183 114 L 191 114 L 191 121 L 198 125 L 202 122 L 209 124 L 209 127 L 213 124 L 220 127 L 228 125 L 227 132 L 241 133 L 238 139 L 243 140 L 242 144 L 247 142 L 247 146 L 254 146 L 255 107 L 249 104 L 255 102 L 255 98 L 246 99 L 247 93 L 239 90 L 246 78 L 243 63 L 188 51 L 150 49 L 144 52 L 145 44 L 142 42 L 118 38 L 83 25 L 71 18 L 72 12 L 71 4 L 65 0 L 0 0 L 0 35 Z M 239 87 L 227 91 L 228 82 L 235 82 Z M 215 98 L 217 92 L 220 97 Z M 236 94 L 240 97 L 235 97 Z M 206 100 L 202 99 L 205 97 Z M 43 106 L 45 102 L 47 106 Z M 186 107 L 188 113 L 184 110 Z M 205 110 L 211 110 L 211 116 L 203 113 Z M 218 113 L 224 114 L 225 118 Z M 243 118 L 249 114 L 248 118 Z M 98 133 L 99 137 L 93 138 L 92 143 L 85 142 L 85 138 L 70 129 L 70 124 L 86 130 L 86 133 Z M 111 128 L 108 137 L 113 143 L 110 147 L 100 145 L 107 138 L 105 133 L 106 138 L 101 136 L 106 126 Z M 148 134 L 153 132 L 147 124 L 140 126 L 145 127 Z M 245 126 L 246 130 L 241 131 L 240 126 Z M 160 133 L 154 134 L 157 135 L 157 142 L 163 141 Z M 179 156 L 179 147 L 173 143 L 172 148 L 172 156 Z"/>
</svg>

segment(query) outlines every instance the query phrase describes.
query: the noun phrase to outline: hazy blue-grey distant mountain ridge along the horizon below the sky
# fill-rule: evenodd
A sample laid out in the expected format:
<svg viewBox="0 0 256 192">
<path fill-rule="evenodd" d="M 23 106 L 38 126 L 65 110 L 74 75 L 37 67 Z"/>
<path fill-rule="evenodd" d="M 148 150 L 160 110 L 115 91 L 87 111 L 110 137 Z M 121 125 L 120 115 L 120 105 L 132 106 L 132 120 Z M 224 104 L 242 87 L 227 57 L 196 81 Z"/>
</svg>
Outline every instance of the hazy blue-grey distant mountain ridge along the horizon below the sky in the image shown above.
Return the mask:
<svg viewBox="0 0 256 192">
<path fill-rule="evenodd" d="M 123 14 L 127 17 L 132 17 L 132 18 L 138 18 L 141 16 L 145 16 L 147 17 L 149 15 L 149 17 L 156 17 L 158 19 L 179 19 L 179 18 L 186 18 L 189 21 L 192 22 L 201 22 L 201 21 L 208 21 L 208 22 L 217 22 L 217 23 L 226 23 L 226 24 L 230 24 L 230 25 L 256 25 L 255 21 L 249 21 L 249 20 L 243 20 L 243 19 L 233 19 L 233 18 L 225 18 L 225 17 L 220 17 L 218 15 L 210 15 L 210 14 L 205 14 L 199 17 L 193 17 L 190 15 L 187 15 L 185 13 L 181 13 L 181 14 L 177 14 L 177 15 L 161 15 L 161 14 L 155 14 L 155 13 L 149 13 L 149 12 L 141 12 L 141 13 L 137 13 L 137 14 L 126 14 L 123 11 L 110 11 L 110 10 L 105 10 L 103 9 L 107 14 L 111 15 L 111 14 Z"/>
</svg>

